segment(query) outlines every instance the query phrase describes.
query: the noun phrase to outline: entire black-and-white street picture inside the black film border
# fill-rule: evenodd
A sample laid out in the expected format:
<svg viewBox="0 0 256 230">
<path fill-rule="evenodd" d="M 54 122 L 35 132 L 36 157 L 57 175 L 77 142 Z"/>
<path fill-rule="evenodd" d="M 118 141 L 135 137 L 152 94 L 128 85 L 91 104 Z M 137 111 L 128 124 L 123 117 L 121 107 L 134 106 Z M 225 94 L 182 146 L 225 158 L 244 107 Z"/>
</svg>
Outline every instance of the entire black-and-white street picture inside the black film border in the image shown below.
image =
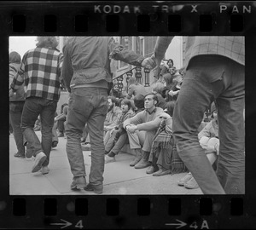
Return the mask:
<svg viewBox="0 0 256 230">
<path fill-rule="evenodd" d="M 9 36 L 10 195 L 245 194 L 244 36 Z"/>
</svg>

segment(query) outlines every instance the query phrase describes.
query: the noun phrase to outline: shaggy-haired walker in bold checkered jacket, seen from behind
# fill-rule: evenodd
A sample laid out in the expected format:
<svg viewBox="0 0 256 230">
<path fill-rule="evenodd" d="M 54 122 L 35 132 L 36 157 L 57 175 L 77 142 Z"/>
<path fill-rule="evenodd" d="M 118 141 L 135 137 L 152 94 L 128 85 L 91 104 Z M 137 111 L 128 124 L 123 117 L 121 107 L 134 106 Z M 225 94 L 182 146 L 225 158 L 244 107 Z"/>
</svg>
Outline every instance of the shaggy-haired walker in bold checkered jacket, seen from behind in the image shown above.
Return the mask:
<svg viewBox="0 0 256 230">
<path fill-rule="evenodd" d="M 20 70 L 11 83 L 9 95 L 25 82 L 26 101 L 21 116 L 21 129 L 35 156 L 32 173 L 42 169 L 42 174 L 47 174 L 55 111 L 61 95 L 62 55 L 56 49 L 57 37 L 38 37 L 36 45 L 37 48 L 28 50 L 23 56 Z M 38 115 L 42 124 L 42 143 L 33 129 Z"/>
</svg>

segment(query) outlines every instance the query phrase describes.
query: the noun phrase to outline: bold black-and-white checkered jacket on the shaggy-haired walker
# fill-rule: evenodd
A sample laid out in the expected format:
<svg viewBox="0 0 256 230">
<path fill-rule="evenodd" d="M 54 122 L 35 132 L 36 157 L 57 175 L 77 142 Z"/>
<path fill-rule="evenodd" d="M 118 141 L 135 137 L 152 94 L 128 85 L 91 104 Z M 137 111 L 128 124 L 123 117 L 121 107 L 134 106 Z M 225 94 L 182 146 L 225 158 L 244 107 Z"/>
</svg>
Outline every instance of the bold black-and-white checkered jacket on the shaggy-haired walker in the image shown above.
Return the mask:
<svg viewBox="0 0 256 230">
<path fill-rule="evenodd" d="M 62 59 L 63 55 L 56 49 L 28 50 L 10 88 L 16 91 L 25 82 L 26 98 L 36 96 L 59 101 Z"/>
</svg>

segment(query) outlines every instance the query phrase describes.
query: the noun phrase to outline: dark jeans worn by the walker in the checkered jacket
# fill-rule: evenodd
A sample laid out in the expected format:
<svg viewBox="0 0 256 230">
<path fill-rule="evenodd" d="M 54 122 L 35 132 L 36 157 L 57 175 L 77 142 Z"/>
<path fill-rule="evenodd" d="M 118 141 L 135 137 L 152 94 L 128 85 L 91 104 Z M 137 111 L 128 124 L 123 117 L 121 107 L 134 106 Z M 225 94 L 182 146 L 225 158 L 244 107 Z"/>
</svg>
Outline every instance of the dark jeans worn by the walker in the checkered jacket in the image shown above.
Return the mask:
<svg viewBox="0 0 256 230">
<path fill-rule="evenodd" d="M 43 166 L 49 164 L 56 107 L 57 101 L 50 101 L 41 97 L 29 97 L 26 98 L 22 112 L 21 128 L 26 141 L 32 148 L 33 155 L 36 156 L 39 152 L 44 152 L 47 156 Z M 38 115 L 41 119 L 42 143 L 33 129 Z"/>
</svg>

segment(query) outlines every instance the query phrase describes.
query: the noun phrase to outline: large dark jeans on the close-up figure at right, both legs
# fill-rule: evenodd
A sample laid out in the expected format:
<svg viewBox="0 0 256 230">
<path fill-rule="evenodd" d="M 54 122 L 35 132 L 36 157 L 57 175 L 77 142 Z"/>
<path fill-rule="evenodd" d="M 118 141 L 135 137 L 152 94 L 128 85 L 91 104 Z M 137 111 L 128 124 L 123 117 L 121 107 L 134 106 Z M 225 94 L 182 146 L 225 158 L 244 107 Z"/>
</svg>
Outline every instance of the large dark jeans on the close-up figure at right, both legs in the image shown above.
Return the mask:
<svg viewBox="0 0 256 230">
<path fill-rule="evenodd" d="M 177 152 L 205 194 L 245 193 L 244 66 L 222 56 L 190 60 L 173 114 Z M 217 173 L 198 141 L 207 107 L 217 101 Z"/>
</svg>

